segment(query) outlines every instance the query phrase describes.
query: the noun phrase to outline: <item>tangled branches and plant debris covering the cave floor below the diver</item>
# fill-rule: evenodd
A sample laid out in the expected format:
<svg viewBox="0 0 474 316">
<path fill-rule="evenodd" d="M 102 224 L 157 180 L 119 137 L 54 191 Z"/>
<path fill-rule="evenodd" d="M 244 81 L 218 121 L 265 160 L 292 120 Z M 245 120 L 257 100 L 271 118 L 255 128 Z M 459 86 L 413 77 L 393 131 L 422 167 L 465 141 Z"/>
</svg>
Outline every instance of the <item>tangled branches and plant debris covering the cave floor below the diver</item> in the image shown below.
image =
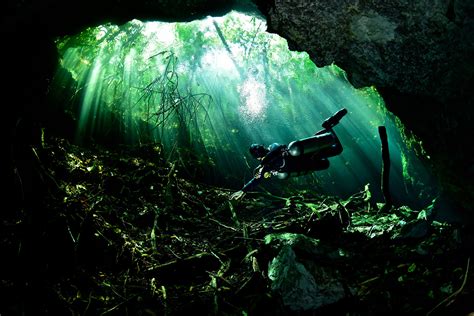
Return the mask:
<svg viewBox="0 0 474 316">
<path fill-rule="evenodd" d="M 385 213 L 368 185 L 346 200 L 289 190 L 231 203 L 159 146 L 46 133 L 30 150 L 38 199 L 2 222 L 2 315 L 299 315 L 269 270 L 283 244 L 346 289 L 318 314 L 472 311 L 472 231 L 430 220 L 432 207 Z"/>
</svg>

